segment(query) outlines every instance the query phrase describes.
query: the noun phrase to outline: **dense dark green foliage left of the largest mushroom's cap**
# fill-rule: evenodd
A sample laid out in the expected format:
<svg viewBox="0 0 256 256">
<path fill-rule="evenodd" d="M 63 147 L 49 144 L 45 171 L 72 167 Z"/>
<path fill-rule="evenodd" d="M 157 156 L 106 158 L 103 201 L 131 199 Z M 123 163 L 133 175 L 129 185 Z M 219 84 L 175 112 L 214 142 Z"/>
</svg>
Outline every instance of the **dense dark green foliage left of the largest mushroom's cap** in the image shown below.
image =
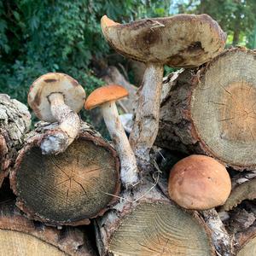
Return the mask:
<svg viewBox="0 0 256 256">
<path fill-rule="evenodd" d="M 164 5 L 163 5 L 164 3 Z M 29 85 L 48 72 L 68 73 L 87 93 L 102 84 L 93 61 L 109 52 L 100 19 L 166 15 L 164 1 L 9 0 L 0 3 L 0 91 L 26 102 Z"/>
</svg>

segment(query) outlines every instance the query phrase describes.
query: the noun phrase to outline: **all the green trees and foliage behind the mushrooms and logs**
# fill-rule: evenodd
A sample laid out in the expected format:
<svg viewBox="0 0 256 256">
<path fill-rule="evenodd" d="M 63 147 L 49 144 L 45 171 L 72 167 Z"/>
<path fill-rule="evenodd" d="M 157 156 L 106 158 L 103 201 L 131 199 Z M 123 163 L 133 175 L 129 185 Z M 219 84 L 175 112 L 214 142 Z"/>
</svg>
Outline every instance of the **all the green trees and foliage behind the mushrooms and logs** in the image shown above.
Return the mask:
<svg viewBox="0 0 256 256">
<path fill-rule="evenodd" d="M 0 92 L 26 103 L 33 80 L 63 72 L 90 93 L 104 67 L 117 64 L 102 38 L 102 15 L 128 22 L 177 13 L 212 15 L 228 44 L 256 47 L 255 0 L 7 0 L 0 2 Z"/>
</svg>

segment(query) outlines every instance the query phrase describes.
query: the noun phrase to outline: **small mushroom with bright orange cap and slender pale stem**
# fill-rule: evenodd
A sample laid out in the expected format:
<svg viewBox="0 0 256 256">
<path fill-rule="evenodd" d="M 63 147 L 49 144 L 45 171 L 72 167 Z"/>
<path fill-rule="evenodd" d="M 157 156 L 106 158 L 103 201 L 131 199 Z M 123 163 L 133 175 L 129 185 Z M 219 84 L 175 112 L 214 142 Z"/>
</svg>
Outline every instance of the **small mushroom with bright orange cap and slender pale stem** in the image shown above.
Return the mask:
<svg viewBox="0 0 256 256">
<path fill-rule="evenodd" d="M 101 107 L 102 115 L 119 154 L 120 177 L 125 187 L 136 185 L 138 182 L 137 162 L 131 149 L 124 127 L 122 126 L 115 101 L 128 96 L 128 91 L 118 84 L 109 84 L 94 90 L 88 96 L 84 108 Z"/>
</svg>

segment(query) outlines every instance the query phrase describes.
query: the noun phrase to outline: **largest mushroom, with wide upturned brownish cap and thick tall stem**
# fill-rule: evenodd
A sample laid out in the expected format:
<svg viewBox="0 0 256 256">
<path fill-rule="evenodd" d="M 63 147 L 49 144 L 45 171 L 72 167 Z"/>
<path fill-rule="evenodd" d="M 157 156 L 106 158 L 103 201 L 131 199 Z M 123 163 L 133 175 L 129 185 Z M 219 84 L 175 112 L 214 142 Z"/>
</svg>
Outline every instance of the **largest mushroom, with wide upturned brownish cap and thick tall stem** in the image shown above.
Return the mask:
<svg viewBox="0 0 256 256">
<path fill-rule="evenodd" d="M 175 15 L 125 25 L 104 15 L 101 25 L 113 49 L 146 63 L 130 137 L 131 148 L 145 163 L 158 133 L 164 65 L 198 67 L 224 49 L 226 35 L 208 15 Z"/>
</svg>

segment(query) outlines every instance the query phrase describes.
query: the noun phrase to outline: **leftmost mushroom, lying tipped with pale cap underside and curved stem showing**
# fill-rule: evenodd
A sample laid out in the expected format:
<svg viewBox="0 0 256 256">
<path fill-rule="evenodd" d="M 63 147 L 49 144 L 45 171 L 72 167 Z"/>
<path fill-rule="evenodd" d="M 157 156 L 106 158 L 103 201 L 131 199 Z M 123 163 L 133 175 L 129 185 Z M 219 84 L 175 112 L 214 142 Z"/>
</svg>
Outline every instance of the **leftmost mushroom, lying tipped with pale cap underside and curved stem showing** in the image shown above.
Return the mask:
<svg viewBox="0 0 256 256">
<path fill-rule="evenodd" d="M 38 119 L 59 123 L 43 138 L 43 154 L 58 154 L 73 143 L 79 134 L 80 109 L 84 106 L 85 91 L 77 80 L 64 73 L 46 73 L 33 82 L 27 102 Z"/>
</svg>

